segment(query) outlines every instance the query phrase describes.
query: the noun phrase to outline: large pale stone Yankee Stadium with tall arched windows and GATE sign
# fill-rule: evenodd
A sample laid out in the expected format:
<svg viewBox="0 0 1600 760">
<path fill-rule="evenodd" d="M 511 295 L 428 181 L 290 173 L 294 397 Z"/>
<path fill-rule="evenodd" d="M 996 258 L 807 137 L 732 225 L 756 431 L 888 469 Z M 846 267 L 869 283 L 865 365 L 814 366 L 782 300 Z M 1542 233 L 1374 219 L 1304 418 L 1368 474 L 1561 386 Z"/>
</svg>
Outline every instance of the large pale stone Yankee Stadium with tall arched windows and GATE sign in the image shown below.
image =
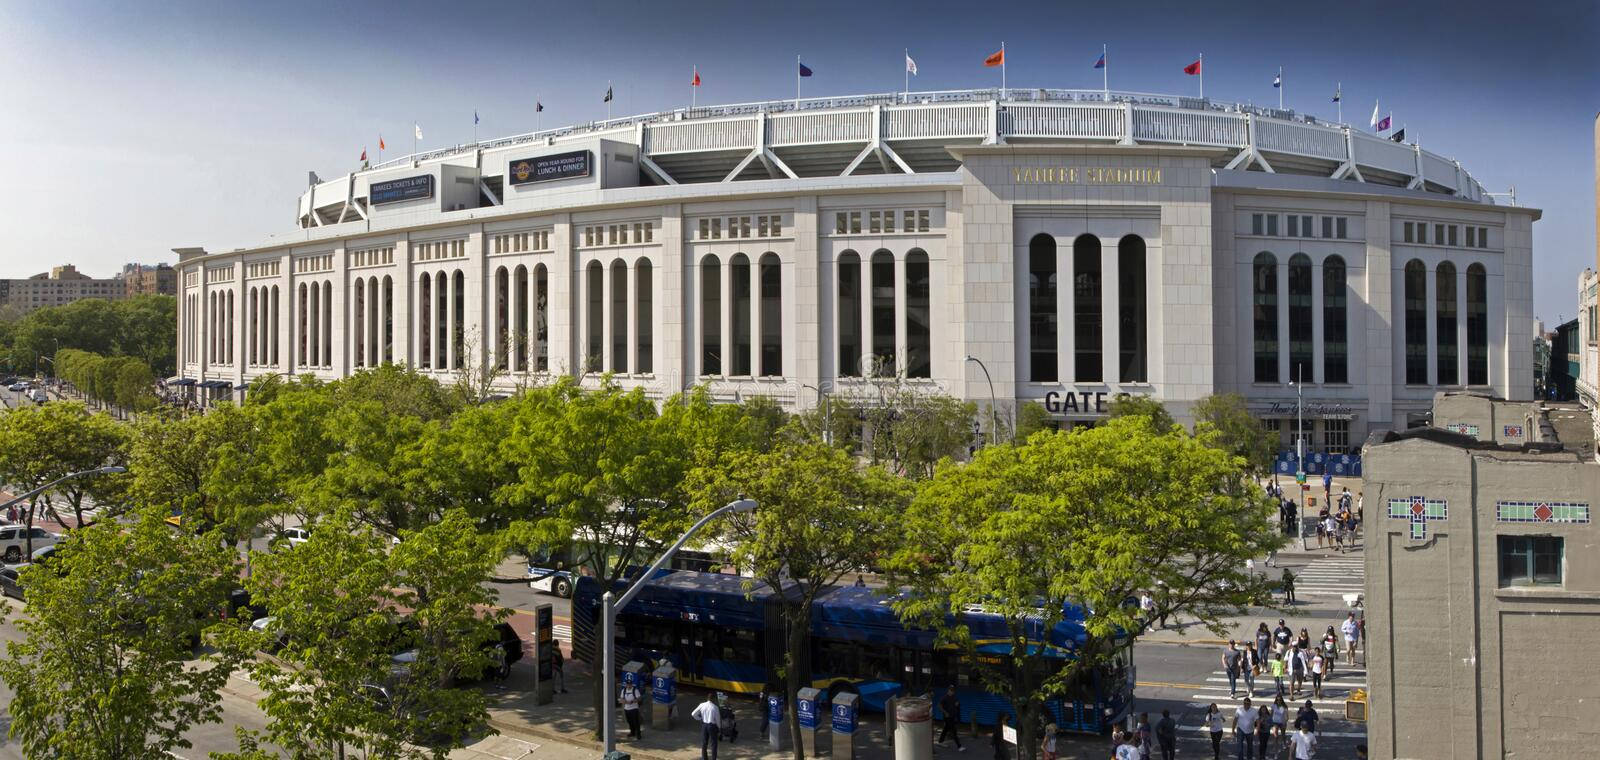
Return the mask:
<svg viewBox="0 0 1600 760">
<path fill-rule="evenodd" d="M 1533 390 L 1538 210 L 1418 146 L 1210 99 L 683 109 L 390 160 L 312 184 L 296 218 L 178 250 L 168 386 L 395 362 L 797 410 L 893 379 L 1061 424 L 1235 392 L 1285 446 L 1301 390 L 1334 453 L 1437 390 Z"/>
</svg>

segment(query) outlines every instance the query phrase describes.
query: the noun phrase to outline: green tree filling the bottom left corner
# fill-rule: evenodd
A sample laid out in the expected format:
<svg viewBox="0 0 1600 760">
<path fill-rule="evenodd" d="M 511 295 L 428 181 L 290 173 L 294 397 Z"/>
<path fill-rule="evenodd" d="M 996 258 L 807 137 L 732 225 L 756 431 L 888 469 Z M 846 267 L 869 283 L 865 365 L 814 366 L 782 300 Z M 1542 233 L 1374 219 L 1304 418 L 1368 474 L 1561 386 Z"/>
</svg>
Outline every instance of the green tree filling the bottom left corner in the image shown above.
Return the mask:
<svg viewBox="0 0 1600 760">
<path fill-rule="evenodd" d="M 189 747 L 184 731 L 221 718 L 237 656 L 187 643 L 216 622 L 235 557 L 205 536 L 173 536 L 160 512 L 77 530 L 50 565 L 22 571 L 26 638 L 0 678 L 16 691 L 11 736 L 27 757 L 142 760 Z"/>
</svg>

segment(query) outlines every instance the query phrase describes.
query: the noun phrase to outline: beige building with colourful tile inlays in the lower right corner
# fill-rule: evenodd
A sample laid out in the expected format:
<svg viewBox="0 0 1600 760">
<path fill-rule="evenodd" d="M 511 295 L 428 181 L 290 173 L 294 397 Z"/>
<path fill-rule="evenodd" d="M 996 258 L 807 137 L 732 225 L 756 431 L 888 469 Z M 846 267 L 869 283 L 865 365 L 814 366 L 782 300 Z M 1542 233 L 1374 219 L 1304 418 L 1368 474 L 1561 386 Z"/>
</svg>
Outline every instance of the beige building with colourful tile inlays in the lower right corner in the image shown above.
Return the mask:
<svg viewBox="0 0 1600 760">
<path fill-rule="evenodd" d="M 1592 422 L 1475 394 L 1434 418 L 1363 450 L 1370 757 L 1595 757 Z"/>
</svg>

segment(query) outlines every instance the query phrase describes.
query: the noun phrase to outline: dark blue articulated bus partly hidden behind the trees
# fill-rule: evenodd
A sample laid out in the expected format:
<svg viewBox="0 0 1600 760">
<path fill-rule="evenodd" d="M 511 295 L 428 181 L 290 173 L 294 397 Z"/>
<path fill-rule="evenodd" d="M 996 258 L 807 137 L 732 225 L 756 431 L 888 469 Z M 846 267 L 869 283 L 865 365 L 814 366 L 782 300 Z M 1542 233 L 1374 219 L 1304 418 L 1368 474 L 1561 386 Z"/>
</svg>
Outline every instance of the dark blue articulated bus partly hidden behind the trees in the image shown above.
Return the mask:
<svg viewBox="0 0 1600 760">
<path fill-rule="evenodd" d="M 672 662 L 678 680 L 709 690 L 755 694 L 778 685 L 784 656 L 782 606 L 766 584 L 722 573 L 659 571 L 616 619 L 616 666 Z M 619 584 L 621 594 L 626 586 Z M 573 653 L 594 666 L 600 632 L 600 582 L 579 578 L 573 594 Z M 962 613 L 979 658 L 1000 661 L 1011 651 L 997 614 Z M 1029 632 L 1045 640 L 1043 624 Z M 1080 610 L 1069 610 L 1048 635 L 1048 667 L 1066 667 L 1086 642 Z M 1118 642 L 1122 643 L 1122 642 Z M 906 627 L 882 589 L 835 587 L 811 606 L 810 648 L 802 653 L 802 682 L 827 693 L 861 696 L 867 710 L 883 710 L 896 694 L 931 694 L 938 702 L 954 686 L 960 720 L 994 725 L 1000 714 L 1016 725 L 1011 704 L 984 690 L 963 653 L 934 646 L 934 632 Z M 1083 672 L 1067 693 L 1051 699 L 1048 720 L 1064 731 L 1104 733 L 1133 712 L 1133 648 Z M 936 718 L 942 714 L 936 709 Z"/>
</svg>

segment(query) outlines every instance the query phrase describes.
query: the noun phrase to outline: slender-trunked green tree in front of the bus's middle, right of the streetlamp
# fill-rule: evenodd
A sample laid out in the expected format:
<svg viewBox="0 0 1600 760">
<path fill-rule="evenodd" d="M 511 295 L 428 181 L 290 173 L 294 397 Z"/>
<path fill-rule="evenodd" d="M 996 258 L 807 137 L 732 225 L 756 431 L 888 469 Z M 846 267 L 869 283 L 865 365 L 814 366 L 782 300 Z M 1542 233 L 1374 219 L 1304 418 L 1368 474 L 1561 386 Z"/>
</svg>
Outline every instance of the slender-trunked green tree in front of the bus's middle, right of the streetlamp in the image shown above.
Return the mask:
<svg viewBox="0 0 1600 760">
<path fill-rule="evenodd" d="M 733 520 L 734 563 L 755 573 L 784 606 L 784 675 L 795 758 L 803 758 L 794 715 L 811 603 L 846 574 L 878 562 L 904 515 L 910 488 L 880 467 L 861 467 L 822 443 L 779 443 L 770 451 L 734 451 L 691 474 L 696 512 L 738 498 L 757 502 Z M 752 586 L 754 587 L 754 586 Z"/>
</svg>

